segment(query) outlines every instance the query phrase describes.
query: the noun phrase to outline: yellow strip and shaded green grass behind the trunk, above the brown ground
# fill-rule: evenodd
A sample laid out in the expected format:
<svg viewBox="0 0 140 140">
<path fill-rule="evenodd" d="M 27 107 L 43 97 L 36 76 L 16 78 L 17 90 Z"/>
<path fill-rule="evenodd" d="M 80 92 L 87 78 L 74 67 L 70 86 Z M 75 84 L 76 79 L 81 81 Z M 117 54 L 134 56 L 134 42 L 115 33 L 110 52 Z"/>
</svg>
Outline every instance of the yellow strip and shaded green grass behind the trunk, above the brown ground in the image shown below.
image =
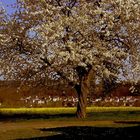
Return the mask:
<svg viewBox="0 0 140 140">
<path fill-rule="evenodd" d="M 75 118 L 76 108 L 1 108 L 0 117 L 12 118 Z M 140 107 L 87 107 L 85 120 L 140 120 Z"/>
</svg>

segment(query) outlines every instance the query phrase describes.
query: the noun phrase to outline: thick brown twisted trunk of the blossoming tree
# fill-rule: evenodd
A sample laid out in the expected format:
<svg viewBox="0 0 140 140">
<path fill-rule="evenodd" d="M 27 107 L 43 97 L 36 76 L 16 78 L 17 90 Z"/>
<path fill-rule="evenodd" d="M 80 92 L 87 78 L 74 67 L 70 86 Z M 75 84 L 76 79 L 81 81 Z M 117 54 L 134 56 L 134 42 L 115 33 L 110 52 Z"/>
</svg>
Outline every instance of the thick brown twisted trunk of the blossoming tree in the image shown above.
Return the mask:
<svg viewBox="0 0 140 140">
<path fill-rule="evenodd" d="M 92 77 L 91 71 L 82 76 L 80 84 L 75 86 L 78 95 L 77 118 L 86 118 L 87 95 L 89 94 L 90 79 Z"/>
</svg>

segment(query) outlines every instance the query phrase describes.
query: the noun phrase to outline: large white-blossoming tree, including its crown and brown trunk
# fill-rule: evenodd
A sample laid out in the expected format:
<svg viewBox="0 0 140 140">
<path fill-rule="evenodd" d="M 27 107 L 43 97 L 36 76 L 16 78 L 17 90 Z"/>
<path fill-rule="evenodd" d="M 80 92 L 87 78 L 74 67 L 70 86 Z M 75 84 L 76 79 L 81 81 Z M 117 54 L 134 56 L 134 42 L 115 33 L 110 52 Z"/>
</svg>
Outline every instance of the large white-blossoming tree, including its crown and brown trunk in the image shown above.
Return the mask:
<svg viewBox="0 0 140 140">
<path fill-rule="evenodd" d="M 16 69 L 5 75 L 64 79 L 77 92 L 78 118 L 86 117 L 95 75 L 118 77 L 130 57 L 140 71 L 139 6 L 139 0 L 17 0 L 5 41 L 8 66 Z"/>
</svg>

